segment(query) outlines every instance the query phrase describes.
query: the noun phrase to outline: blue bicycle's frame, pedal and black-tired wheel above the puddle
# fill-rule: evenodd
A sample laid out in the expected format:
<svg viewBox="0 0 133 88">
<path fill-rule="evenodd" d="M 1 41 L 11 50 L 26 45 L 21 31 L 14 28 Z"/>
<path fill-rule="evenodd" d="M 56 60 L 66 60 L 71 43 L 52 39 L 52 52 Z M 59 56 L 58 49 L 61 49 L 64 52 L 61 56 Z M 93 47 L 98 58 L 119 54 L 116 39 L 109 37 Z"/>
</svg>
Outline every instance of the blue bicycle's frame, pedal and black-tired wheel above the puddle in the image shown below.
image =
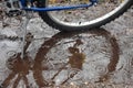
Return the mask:
<svg viewBox="0 0 133 88">
<path fill-rule="evenodd" d="M 132 0 L 6 0 L 6 13 L 12 16 L 35 11 L 54 29 L 80 31 L 113 21 L 132 3 Z"/>
</svg>

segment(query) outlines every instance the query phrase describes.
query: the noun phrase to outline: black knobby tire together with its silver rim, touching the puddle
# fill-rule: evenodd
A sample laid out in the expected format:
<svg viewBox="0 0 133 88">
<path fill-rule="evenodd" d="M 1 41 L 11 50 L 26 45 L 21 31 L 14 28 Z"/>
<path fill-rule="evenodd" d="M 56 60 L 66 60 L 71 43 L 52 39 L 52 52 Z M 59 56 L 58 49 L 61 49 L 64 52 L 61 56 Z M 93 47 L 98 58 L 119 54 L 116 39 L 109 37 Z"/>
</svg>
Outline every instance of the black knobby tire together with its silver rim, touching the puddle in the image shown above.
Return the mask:
<svg viewBox="0 0 133 88">
<path fill-rule="evenodd" d="M 42 18 L 42 20 L 52 26 L 53 29 L 60 30 L 60 31 L 81 31 L 81 30 L 91 30 L 95 28 L 100 28 L 120 15 L 122 15 L 131 6 L 133 1 L 132 0 L 124 0 L 119 7 L 113 9 L 111 12 L 108 12 L 106 14 L 101 15 L 100 18 L 96 18 L 92 21 L 84 22 L 84 23 L 79 23 L 78 24 L 71 24 L 71 23 L 63 23 L 60 19 L 58 20 L 54 18 L 54 15 L 50 14 L 52 11 L 47 11 L 47 12 L 39 12 L 39 15 Z M 99 3 L 98 3 L 99 4 Z M 44 2 L 39 1 L 39 7 L 48 7 L 48 0 Z M 90 9 L 90 8 L 89 8 Z M 57 12 L 59 13 L 59 12 Z M 96 13 L 95 13 L 96 14 Z M 98 13 L 99 14 L 99 13 Z M 58 16 L 58 14 L 55 14 Z M 61 15 L 59 15 L 61 16 Z"/>
</svg>

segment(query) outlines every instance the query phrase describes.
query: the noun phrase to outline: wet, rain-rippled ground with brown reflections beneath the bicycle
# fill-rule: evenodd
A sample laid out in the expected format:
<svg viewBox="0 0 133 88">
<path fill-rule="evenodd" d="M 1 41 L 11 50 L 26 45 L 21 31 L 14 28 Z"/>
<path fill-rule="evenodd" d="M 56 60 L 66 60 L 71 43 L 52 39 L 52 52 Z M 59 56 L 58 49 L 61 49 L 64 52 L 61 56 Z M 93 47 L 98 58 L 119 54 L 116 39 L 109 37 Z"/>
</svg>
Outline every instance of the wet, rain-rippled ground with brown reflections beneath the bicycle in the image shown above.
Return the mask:
<svg viewBox="0 0 133 88">
<path fill-rule="evenodd" d="M 7 26 L 0 34 L 9 36 L 0 37 L 2 88 L 133 88 L 132 9 L 85 32 L 59 32 L 34 18 L 24 59 L 22 30 Z"/>
</svg>

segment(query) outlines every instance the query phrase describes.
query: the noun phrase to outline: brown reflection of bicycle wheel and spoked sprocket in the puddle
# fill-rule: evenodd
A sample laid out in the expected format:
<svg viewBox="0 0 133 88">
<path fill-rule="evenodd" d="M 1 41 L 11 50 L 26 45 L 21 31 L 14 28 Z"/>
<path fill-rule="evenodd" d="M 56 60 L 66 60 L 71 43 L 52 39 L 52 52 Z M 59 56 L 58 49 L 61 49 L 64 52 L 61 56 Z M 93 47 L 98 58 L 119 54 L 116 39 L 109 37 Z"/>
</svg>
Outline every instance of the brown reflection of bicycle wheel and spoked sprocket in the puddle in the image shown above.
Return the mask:
<svg viewBox="0 0 133 88">
<path fill-rule="evenodd" d="M 31 42 L 27 41 L 24 52 Z M 116 69 L 119 52 L 115 37 L 104 29 L 60 32 L 44 41 L 34 59 L 27 52 L 24 59 L 21 59 L 20 53 L 16 58 L 9 58 L 8 68 L 12 72 L 3 80 L 2 87 L 51 88 L 68 84 L 80 87 L 84 82 L 89 87 L 88 82 L 104 82 Z M 28 76 L 31 73 L 33 82 Z"/>
</svg>

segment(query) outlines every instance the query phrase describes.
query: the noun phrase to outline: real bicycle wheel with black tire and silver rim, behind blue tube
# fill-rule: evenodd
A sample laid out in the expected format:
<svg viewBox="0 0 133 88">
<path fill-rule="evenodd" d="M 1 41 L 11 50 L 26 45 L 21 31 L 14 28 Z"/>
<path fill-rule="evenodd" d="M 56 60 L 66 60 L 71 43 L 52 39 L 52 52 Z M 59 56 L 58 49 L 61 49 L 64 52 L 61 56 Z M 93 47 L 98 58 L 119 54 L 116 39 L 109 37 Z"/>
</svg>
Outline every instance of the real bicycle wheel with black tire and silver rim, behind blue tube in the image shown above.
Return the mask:
<svg viewBox="0 0 133 88">
<path fill-rule="evenodd" d="M 43 0 L 42 0 L 43 1 Z M 39 7 L 65 7 L 89 3 L 86 0 L 45 0 Z M 39 12 L 40 16 L 60 31 L 89 30 L 99 28 L 125 12 L 132 0 L 98 0 L 98 4 L 89 8 Z"/>
</svg>

